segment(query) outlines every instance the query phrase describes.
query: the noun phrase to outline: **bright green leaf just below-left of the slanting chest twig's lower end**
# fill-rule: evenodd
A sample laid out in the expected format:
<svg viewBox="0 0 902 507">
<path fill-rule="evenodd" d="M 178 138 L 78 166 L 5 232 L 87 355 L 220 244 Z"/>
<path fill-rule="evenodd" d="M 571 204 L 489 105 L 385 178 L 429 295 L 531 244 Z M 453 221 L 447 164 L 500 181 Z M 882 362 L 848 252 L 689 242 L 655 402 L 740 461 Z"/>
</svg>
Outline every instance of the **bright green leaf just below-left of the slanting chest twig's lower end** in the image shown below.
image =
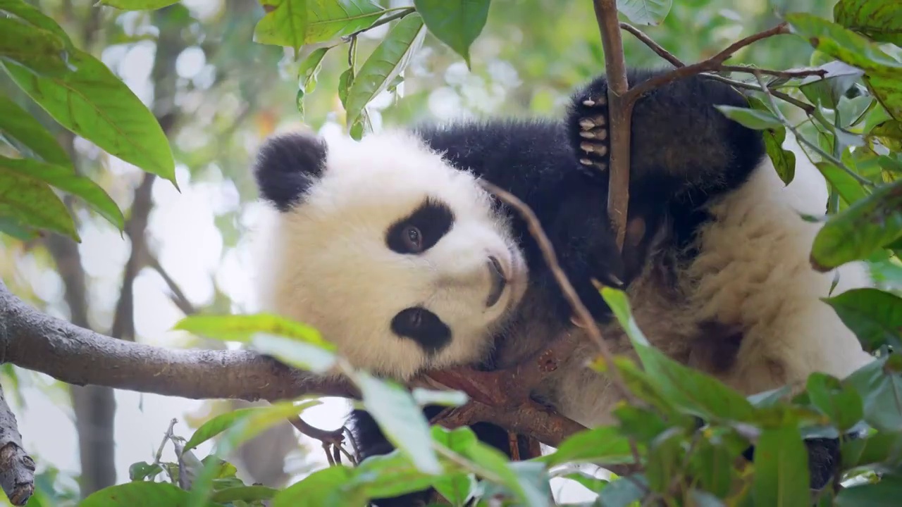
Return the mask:
<svg viewBox="0 0 902 507">
<path fill-rule="evenodd" d="M 596 465 L 612 465 L 632 463 L 630 439 L 624 437 L 615 426 L 600 426 L 584 429 L 566 438 L 557 451 L 541 456 L 538 461 L 548 466 L 565 463 L 594 463 Z"/>
</svg>

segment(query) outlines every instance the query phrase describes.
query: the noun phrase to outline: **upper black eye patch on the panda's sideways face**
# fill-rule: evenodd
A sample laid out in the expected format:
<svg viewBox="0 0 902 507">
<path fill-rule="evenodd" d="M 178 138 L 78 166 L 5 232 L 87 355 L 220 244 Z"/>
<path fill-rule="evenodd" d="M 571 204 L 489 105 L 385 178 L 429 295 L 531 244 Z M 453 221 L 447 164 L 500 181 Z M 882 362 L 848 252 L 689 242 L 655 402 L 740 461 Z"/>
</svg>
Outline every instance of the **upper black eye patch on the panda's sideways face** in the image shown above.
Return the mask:
<svg viewBox="0 0 902 507">
<path fill-rule="evenodd" d="M 454 225 L 454 212 L 445 203 L 427 198 L 409 216 L 389 226 L 385 243 L 397 253 L 426 252 Z"/>
</svg>

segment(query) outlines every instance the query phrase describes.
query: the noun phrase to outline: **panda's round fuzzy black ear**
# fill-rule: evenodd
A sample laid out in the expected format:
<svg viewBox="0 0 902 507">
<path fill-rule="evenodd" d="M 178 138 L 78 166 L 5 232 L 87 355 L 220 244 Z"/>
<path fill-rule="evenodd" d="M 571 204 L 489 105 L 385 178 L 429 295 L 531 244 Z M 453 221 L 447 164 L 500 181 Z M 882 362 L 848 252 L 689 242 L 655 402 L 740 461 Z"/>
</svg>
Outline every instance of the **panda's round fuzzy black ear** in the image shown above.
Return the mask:
<svg viewBox="0 0 902 507">
<path fill-rule="evenodd" d="M 253 164 L 262 198 L 288 211 L 326 169 L 326 140 L 316 134 L 274 135 L 263 143 Z"/>
</svg>

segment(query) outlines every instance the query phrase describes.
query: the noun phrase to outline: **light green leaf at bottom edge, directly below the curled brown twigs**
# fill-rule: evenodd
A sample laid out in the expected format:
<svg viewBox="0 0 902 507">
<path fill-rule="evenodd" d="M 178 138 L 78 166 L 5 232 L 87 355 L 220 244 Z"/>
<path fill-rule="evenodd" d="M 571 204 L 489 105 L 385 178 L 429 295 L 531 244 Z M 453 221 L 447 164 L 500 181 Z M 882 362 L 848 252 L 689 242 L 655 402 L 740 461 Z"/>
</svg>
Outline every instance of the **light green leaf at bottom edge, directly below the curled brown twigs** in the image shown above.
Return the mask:
<svg viewBox="0 0 902 507">
<path fill-rule="evenodd" d="M 345 484 L 354 479 L 354 469 L 348 466 L 329 466 L 291 484 L 272 499 L 271 507 L 366 507 L 366 500 L 347 502 L 343 494 Z"/>
</svg>

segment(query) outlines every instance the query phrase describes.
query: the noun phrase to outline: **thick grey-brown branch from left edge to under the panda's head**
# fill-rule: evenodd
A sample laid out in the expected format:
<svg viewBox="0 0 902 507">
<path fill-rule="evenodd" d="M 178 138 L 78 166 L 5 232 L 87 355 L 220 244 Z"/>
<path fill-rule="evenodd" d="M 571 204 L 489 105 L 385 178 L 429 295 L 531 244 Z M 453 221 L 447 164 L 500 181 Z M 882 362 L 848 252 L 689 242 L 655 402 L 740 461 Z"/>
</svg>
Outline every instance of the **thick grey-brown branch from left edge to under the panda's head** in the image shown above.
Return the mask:
<svg viewBox="0 0 902 507">
<path fill-rule="evenodd" d="M 304 394 L 355 397 L 327 380 L 245 350 L 170 350 L 117 340 L 52 318 L 0 282 L 0 360 L 65 383 L 94 384 L 195 400 L 290 400 Z"/>
</svg>

